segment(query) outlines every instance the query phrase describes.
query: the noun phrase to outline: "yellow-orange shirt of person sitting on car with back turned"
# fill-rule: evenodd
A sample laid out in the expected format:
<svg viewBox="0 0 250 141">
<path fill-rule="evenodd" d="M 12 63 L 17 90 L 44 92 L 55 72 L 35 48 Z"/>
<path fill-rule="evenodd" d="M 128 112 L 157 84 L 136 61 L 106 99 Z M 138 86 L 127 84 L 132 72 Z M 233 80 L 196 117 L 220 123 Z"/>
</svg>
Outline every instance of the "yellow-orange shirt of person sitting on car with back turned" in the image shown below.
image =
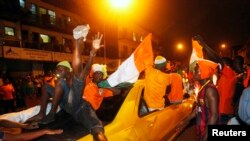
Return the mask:
<svg viewBox="0 0 250 141">
<path fill-rule="evenodd" d="M 163 108 L 165 106 L 164 95 L 167 85 L 170 84 L 169 74 L 154 68 L 145 70 L 144 99 L 149 108 Z"/>
</svg>

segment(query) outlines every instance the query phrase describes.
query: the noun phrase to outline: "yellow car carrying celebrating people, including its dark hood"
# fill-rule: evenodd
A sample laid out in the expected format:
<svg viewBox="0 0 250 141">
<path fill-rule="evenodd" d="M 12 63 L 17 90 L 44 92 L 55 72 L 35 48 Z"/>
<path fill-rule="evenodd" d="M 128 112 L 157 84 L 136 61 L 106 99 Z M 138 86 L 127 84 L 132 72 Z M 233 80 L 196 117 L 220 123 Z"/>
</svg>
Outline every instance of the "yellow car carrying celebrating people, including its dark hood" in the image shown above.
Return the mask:
<svg viewBox="0 0 250 141">
<path fill-rule="evenodd" d="M 122 88 L 120 95 L 105 98 L 96 111 L 109 141 L 166 141 L 174 140 L 180 133 L 176 126 L 192 112 L 195 95 L 149 112 L 143 99 L 144 88 L 144 80 L 138 80 L 134 86 Z M 55 122 L 40 128 L 63 129 L 63 133 L 45 135 L 38 141 L 93 140 L 85 127 L 63 111 L 57 114 Z"/>
</svg>

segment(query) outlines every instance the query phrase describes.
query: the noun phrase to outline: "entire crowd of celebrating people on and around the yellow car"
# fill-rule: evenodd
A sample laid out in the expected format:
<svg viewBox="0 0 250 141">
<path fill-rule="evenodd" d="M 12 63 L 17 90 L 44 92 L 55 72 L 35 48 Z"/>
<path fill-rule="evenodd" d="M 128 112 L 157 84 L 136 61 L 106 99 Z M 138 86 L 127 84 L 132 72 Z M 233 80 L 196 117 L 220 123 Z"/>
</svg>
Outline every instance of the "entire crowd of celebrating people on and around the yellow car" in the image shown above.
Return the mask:
<svg viewBox="0 0 250 141">
<path fill-rule="evenodd" d="M 88 62 L 83 67 L 81 53 L 88 31 L 89 26 L 77 26 L 73 30 L 76 44 L 72 52 L 72 63 L 59 62 L 55 70 L 56 75 L 50 73 L 36 78 L 27 76 L 25 81 L 18 79 L 14 84 L 7 78 L 3 79 L 0 95 L 1 107 L 4 110 L 1 114 L 15 112 L 15 101 L 18 107 L 29 108 L 26 110 L 29 112 L 25 110 L 16 112 L 13 118 L 9 119 L 4 119 L 7 116 L 0 115 L 1 127 L 38 128 L 38 123 L 53 122 L 56 113 L 63 110 L 86 127 L 95 141 L 107 140 L 103 123 L 98 118 L 96 110 L 100 107 L 104 97 L 118 95 L 121 92 L 116 87 L 101 88 L 98 85 L 107 78 L 106 66 L 93 64 L 96 51 L 101 47 L 102 35 L 99 33 L 93 38 Z M 183 93 L 194 93 L 197 86 L 199 91 L 196 107 L 190 116 L 179 124 L 177 130 L 185 127 L 191 119 L 196 117 L 197 140 L 205 141 L 208 125 L 249 125 L 250 69 L 244 66 L 243 57 L 237 56 L 233 60 L 224 57 L 219 63 L 199 59 L 195 61 L 194 68 L 190 68 L 188 75 L 187 72 L 179 74 L 169 71 L 166 66 L 166 58 L 156 56 L 153 65 L 141 72 L 141 77 L 145 79 L 144 99 L 149 111 L 162 110 L 166 105 L 181 103 L 185 97 Z M 212 80 L 214 75 L 217 76 L 216 82 Z M 170 87 L 169 91 L 167 91 L 168 87 Z M 40 102 L 38 105 L 27 107 L 24 97 L 32 99 L 34 96 L 39 97 Z M 0 140 L 15 140 L 16 138 L 30 140 L 45 134 L 61 134 L 62 132 L 61 129 L 43 129 L 20 132 L 14 136 L 5 130 L 0 130 Z"/>
</svg>

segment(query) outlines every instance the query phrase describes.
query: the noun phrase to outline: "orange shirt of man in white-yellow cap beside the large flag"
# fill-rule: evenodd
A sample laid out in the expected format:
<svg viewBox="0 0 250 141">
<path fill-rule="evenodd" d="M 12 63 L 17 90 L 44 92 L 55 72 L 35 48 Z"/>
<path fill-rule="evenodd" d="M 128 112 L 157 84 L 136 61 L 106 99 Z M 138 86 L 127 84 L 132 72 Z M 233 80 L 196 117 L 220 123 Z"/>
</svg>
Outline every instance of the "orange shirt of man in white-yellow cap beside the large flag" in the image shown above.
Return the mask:
<svg viewBox="0 0 250 141">
<path fill-rule="evenodd" d="M 113 96 L 113 92 L 111 90 L 98 88 L 98 86 L 93 82 L 89 82 L 83 91 L 82 98 L 88 101 L 95 110 L 100 107 L 104 97 Z"/>
</svg>

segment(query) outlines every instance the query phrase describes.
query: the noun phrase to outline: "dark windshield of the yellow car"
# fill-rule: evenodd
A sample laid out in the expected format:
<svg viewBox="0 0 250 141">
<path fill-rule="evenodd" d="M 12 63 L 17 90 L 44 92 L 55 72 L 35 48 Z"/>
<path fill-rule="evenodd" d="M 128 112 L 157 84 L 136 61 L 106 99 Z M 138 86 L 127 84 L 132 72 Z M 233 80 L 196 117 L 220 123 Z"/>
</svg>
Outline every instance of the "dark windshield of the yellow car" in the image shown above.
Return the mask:
<svg viewBox="0 0 250 141">
<path fill-rule="evenodd" d="M 113 121 L 131 88 L 132 87 L 120 88 L 121 93 L 119 95 L 103 99 L 103 102 L 100 108 L 96 111 L 96 114 L 104 124 L 108 124 Z"/>
</svg>

